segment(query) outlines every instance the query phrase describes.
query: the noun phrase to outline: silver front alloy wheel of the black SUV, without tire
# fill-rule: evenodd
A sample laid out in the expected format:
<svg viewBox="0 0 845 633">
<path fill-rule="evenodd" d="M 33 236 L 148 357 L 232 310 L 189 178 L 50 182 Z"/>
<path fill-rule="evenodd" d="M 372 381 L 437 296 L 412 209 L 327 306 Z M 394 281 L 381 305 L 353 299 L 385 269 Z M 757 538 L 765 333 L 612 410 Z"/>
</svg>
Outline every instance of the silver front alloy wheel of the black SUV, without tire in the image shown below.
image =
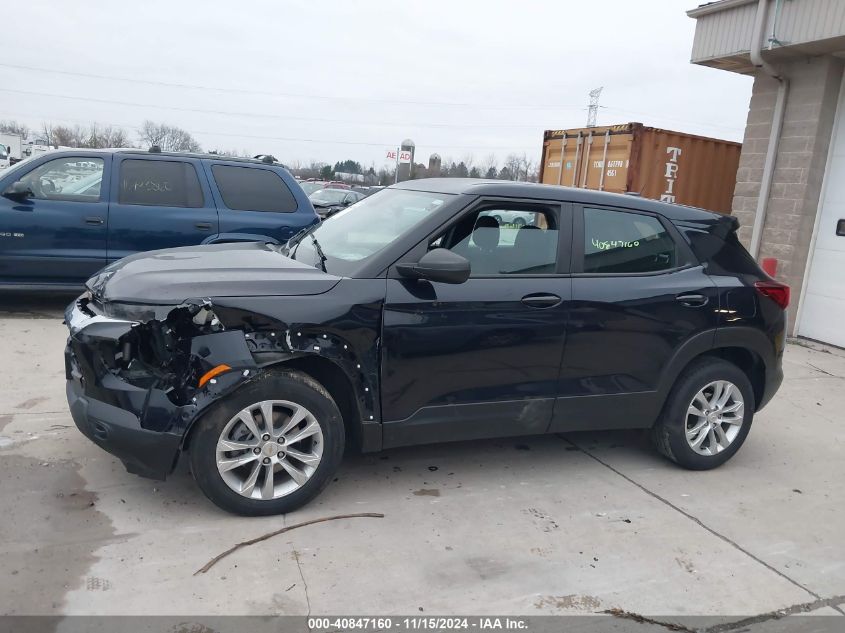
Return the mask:
<svg viewBox="0 0 845 633">
<path fill-rule="evenodd" d="M 323 456 L 323 431 L 305 407 L 263 400 L 235 414 L 217 441 L 217 471 L 243 497 L 269 501 L 304 486 Z"/>
</svg>

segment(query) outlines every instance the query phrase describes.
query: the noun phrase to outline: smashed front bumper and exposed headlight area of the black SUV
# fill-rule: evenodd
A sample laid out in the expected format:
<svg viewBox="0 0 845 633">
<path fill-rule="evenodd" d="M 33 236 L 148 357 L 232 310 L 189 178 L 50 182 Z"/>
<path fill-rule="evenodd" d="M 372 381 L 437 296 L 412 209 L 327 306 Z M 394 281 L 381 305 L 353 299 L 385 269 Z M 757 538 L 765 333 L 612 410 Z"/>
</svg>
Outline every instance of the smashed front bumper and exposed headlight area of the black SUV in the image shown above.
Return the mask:
<svg viewBox="0 0 845 633">
<path fill-rule="evenodd" d="M 173 469 L 192 421 L 256 374 L 259 343 L 275 348 L 265 350 L 273 356 L 265 362 L 286 354 L 284 343 L 227 330 L 203 299 L 175 307 L 102 304 L 88 292 L 65 321 L 76 425 L 129 472 L 155 479 Z"/>
</svg>

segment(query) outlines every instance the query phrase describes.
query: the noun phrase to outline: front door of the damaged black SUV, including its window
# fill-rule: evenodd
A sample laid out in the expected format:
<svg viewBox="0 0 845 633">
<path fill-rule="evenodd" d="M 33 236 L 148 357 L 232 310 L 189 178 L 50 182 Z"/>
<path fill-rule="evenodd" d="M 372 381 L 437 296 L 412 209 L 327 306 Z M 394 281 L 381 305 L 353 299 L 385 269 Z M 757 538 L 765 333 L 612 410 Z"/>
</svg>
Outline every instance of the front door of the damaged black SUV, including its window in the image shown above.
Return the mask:
<svg viewBox="0 0 845 633">
<path fill-rule="evenodd" d="M 486 200 L 431 236 L 470 261 L 462 284 L 390 274 L 382 338 L 386 447 L 543 433 L 566 332 L 568 205 Z"/>
</svg>

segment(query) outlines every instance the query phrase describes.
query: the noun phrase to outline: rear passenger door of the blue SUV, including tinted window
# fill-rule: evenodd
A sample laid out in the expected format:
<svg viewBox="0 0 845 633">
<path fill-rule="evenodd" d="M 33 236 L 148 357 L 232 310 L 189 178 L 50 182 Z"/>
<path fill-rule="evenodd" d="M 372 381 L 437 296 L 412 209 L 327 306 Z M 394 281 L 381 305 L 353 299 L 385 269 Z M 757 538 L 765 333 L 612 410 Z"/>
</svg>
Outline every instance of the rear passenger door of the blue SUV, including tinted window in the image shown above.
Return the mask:
<svg viewBox="0 0 845 633">
<path fill-rule="evenodd" d="M 199 160 L 118 154 L 114 169 L 110 262 L 139 251 L 201 244 L 217 235 L 217 208 Z"/>
</svg>

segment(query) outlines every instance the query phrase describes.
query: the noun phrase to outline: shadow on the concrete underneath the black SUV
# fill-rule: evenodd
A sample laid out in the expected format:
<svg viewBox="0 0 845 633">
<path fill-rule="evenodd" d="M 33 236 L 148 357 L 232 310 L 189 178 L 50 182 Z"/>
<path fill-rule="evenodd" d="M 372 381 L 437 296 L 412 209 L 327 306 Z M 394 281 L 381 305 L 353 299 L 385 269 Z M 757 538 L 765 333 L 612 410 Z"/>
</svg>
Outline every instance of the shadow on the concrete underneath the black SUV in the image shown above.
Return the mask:
<svg viewBox="0 0 845 633">
<path fill-rule="evenodd" d="M 583 482 L 595 468 L 593 451 L 642 463 L 644 468 L 671 468 L 638 430 L 579 432 L 490 440 L 428 444 L 361 454 L 347 451 L 333 482 L 303 512 L 328 515 L 383 511 L 414 497 L 472 494 L 478 489 L 502 489 L 526 484 L 546 486 Z M 226 516 L 207 501 L 190 474 L 187 459 L 159 487 L 174 506 L 192 513 Z M 530 494 L 529 489 L 523 488 Z M 537 489 L 536 487 L 534 488 Z M 136 490 L 145 494 L 142 490 Z M 542 497 L 547 492 L 538 491 Z M 297 511 L 291 516 L 299 515 Z"/>
</svg>

